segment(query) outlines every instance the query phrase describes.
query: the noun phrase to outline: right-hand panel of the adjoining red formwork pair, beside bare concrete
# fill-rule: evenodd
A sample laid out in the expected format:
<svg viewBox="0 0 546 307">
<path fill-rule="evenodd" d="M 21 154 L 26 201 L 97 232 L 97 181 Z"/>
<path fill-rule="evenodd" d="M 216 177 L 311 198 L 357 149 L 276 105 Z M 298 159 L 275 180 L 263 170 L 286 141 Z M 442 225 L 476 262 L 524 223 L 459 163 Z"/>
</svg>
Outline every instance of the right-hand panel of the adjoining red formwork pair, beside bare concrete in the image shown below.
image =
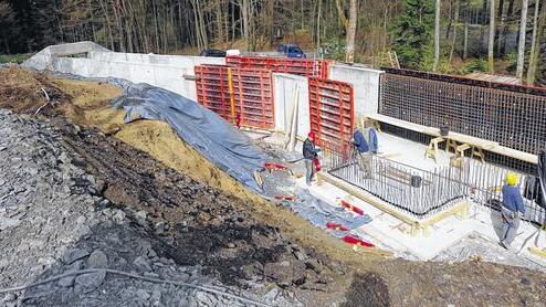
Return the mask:
<svg viewBox="0 0 546 307">
<path fill-rule="evenodd" d="M 241 125 L 270 129 L 275 126 L 271 71 L 233 68 L 235 113 Z"/>
</svg>

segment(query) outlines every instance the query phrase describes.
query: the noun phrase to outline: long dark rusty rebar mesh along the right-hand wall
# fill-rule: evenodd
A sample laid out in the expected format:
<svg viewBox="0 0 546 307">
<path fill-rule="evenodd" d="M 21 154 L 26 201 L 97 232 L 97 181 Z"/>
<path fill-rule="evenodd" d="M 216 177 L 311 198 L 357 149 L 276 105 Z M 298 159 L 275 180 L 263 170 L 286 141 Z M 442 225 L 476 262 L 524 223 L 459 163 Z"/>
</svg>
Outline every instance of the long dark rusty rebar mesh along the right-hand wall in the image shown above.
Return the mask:
<svg viewBox="0 0 546 307">
<path fill-rule="evenodd" d="M 534 87 L 387 70 L 379 113 L 538 155 L 546 144 L 545 96 Z"/>
</svg>

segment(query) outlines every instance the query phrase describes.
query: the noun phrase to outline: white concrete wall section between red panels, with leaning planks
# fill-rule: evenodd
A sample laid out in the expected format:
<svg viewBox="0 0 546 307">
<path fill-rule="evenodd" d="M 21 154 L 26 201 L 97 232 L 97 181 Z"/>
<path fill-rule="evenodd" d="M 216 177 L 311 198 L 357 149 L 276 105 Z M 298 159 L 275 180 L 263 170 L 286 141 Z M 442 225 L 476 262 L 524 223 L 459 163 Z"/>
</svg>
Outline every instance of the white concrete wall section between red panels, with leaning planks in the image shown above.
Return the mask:
<svg viewBox="0 0 546 307">
<path fill-rule="evenodd" d="M 298 97 L 297 136 L 306 138 L 309 133 L 309 89 L 307 78 L 291 74 L 273 74 L 275 100 L 275 129 L 285 131 L 291 115 L 291 106 Z M 297 88 L 297 92 L 294 89 Z"/>
</svg>

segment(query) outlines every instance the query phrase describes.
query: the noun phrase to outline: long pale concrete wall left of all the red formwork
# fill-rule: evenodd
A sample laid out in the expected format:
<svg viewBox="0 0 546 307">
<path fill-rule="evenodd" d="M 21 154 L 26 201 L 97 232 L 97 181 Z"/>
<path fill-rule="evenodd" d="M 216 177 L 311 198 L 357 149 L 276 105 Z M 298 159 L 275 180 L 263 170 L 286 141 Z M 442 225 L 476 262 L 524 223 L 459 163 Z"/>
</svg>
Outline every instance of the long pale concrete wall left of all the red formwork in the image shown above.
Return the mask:
<svg viewBox="0 0 546 307">
<path fill-rule="evenodd" d="M 87 53 L 87 57 L 62 57 Z M 193 66 L 225 64 L 223 57 L 157 55 L 111 52 L 92 42 L 49 46 L 27 61 L 23 66 L 51 70 L 84 77 L 118 77 L 134 83 L 147 83 L 196 100 Z"/>
</svg>

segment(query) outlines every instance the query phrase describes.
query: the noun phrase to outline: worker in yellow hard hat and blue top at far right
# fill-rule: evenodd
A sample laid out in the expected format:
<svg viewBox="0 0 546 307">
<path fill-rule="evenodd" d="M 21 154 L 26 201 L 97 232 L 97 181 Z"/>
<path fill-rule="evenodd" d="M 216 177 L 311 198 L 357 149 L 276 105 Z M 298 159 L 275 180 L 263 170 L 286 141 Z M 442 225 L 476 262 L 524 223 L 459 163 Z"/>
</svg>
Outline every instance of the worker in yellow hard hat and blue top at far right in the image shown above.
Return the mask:
<svg viewBox="0 0 546 307">
<path fill-rule="evenodd" d="M 503 216 L 503 230 L 501 233 L 501 245 L 510 250 L 519 226 L 519 215 L 525 213 L 522 193 L 517 186 L 517 174 L 508 172 L 506 183 L 503 186 L 503 202 L 501 215 Z"/>
</svg>

